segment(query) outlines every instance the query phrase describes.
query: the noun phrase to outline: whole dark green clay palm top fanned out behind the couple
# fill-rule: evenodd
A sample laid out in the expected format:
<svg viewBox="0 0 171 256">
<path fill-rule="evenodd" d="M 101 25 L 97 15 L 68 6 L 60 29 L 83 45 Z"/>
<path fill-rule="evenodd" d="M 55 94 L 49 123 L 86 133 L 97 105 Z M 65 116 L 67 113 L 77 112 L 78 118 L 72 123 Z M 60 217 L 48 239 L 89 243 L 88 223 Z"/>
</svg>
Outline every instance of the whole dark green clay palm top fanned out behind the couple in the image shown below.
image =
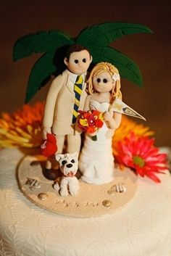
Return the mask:
<svg viewBox="0 0 171 256">
<path fill-rule="evenodd" d="M 51 75 L 64 70 L 64 55 L 72 44 L 86 46 L 93 64 L 110 62 L 120 70 L 122 78 L 127 78 L 138 86 L 143 86 L 141 72 L 132 59 L 109 46 L 113 41 L 134 33 L 152 33 L 144 25 L 125 22 L 105 22 L 82 30 L 77 38 L 72 38 L 59 30 L 38 31 L 19 38 L 14 44 L 13 60 L 17 61 L 32 54 L 43 54 L 33 65 L 28 80 L 25 103 L 44 86 Z"/>
</svg>

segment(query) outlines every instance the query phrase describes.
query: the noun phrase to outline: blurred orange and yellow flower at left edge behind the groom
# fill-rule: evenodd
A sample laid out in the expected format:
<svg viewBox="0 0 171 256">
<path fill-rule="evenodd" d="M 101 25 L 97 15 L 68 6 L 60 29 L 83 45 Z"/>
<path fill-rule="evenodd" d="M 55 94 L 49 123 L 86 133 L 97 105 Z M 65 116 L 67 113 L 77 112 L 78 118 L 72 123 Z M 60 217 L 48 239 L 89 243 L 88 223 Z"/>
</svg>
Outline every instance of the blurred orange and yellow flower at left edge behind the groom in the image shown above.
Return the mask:
<svg viewBox="0 0 171 256">
<path fill-rule="evenodd" d="M 1 147 L 35 147 L 42 143 L 41 122 L 43 103 L 25 104 L 21 110 L 9 115 L 2 113 L 0 119 Z"/>
</svg>

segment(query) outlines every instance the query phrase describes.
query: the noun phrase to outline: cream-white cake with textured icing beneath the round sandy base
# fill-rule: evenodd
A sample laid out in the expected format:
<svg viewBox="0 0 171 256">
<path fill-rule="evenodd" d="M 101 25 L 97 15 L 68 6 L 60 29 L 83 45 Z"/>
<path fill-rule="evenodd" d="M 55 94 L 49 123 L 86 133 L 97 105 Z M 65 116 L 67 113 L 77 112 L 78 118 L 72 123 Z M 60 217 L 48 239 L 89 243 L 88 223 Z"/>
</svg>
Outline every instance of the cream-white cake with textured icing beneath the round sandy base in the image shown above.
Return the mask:
<svg viewBox="0 0 171 256">
<path fill-rule="evenodd" d="M 0 152 L 0 255 L 171 256 L 171 178 L 138 178 L 134 199 L 100 218 L 68 218 L 33 205 L 17 187 L 17 149 Z"/>
</svg>

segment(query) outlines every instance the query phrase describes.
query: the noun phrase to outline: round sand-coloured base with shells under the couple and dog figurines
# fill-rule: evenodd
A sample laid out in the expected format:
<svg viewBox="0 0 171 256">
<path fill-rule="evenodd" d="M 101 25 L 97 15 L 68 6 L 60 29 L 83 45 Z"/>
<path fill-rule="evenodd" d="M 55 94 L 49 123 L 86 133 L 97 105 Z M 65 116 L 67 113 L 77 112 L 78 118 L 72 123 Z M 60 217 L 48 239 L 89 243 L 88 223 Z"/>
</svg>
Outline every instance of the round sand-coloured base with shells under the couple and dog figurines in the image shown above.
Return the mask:
<svg viewBox="0 0 171 256">
<path fill-rule="evenodd" d="M 123 171 L 116 168 L 115 178 L 111 183 L 93 185 L 79 180 L 80 189 L 77 196 L 61 197 L 53 189 L 54 181 L 49 181 L 43 176 L 41 164 L 31 165 L 36 160 L 35 157 L 27 156 L 20 163 L 18 168 L 20 189 L 35 205 L 57 214 L 85 218 L 114 212 L 125 206 L 137 189 L 135 173 L 128 168 Z M 28 178 L 36 179 L 41 187 L 30 189 Z M 126 191 L 117 192 L 118 184 L 122 184 Z"/>
</svg>

